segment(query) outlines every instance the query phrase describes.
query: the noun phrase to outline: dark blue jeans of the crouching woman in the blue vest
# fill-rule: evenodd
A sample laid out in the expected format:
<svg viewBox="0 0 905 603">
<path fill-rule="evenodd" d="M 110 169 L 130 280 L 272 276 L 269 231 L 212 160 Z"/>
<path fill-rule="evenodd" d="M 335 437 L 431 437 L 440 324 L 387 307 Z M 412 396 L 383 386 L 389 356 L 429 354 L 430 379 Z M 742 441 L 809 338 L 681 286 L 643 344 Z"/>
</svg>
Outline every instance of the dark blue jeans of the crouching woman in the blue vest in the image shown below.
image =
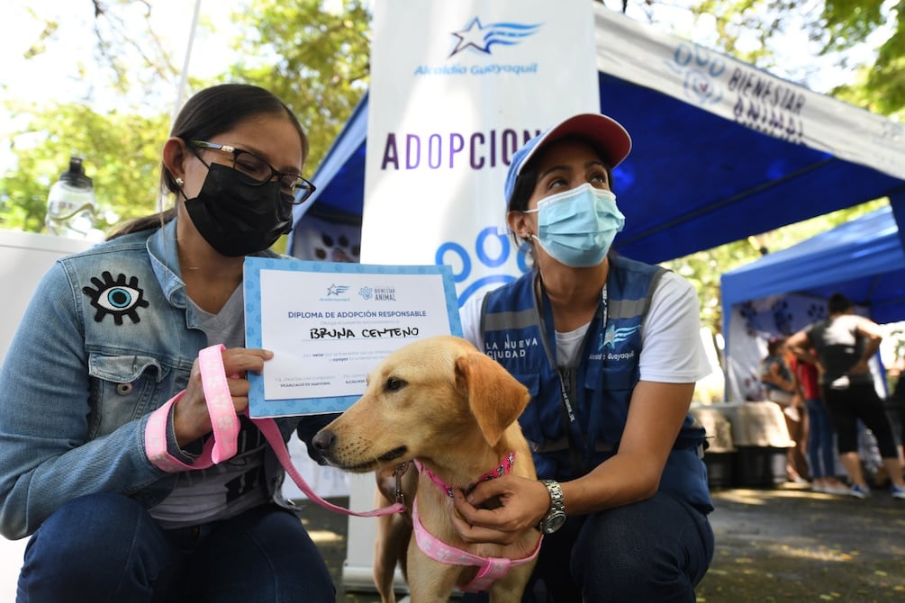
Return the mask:
<svg viewBox="0 0 905 603">
<path fill-rule="evenodd" d="M 707 516 L 662 492 L 569 517 L 562 529 L 544 536 L 522 601 L 694 603 L 713 547 Z M 462 603 L 487 600 L 487 593 L 462 597 Z"/>
</svg>

